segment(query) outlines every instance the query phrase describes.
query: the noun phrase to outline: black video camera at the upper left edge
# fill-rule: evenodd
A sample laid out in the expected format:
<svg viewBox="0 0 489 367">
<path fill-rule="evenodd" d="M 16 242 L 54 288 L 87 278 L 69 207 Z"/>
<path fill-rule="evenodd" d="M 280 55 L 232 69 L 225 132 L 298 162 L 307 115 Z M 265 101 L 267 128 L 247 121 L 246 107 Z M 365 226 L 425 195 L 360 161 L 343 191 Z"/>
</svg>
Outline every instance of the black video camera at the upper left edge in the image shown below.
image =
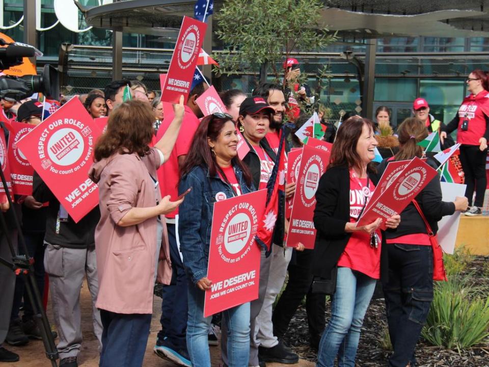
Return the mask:
<svg viewBox="0 0 489 367">
<path fill-rule="evenodd" d="M 33 57 L 35 48 L 6 43 L 0 39 L 0 70 L 22 64 L 22 58 Z M 41 92 L 48 98 L 58 99 L 60 94 L 58 70 L 45 65 L 40 75 L 0 76 L 0 98 L 18 101 Z"/>
</svg>

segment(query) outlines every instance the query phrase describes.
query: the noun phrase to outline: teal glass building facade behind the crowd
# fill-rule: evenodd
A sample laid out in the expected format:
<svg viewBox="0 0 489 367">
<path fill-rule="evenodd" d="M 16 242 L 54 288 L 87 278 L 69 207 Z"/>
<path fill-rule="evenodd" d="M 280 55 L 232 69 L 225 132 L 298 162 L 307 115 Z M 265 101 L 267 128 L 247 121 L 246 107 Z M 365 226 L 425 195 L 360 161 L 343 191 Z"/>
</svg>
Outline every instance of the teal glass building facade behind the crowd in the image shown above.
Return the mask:
<svg viewBox="0 0 489 367">
<path fill-rule="evenodd" d="M 23 40 L 23 0 L 3 2 L 3 32 L 15 40 Z M 86 6 L 98 6 L 101 0 L 82 0 Z M 112 31 L 92 28 L 72 32 L 58 21 L 54 0 L 40 1 L 40 24 L 37 47 L 44 54 L 38 66 L 45 63 L 64 65 L 64 92 L 85 93 L 103 88 L 112 78 Z M 15 25 L 19 23 L 18 25 Z M 87 24 L 81 13 L 78 28 Z M 297 54 L 301 69 L 308 75 L 308 84 L 321 84 L 320 99 L 331 108 L 332 118 L 339 112 L 359 108 L 362 87 L 359 74 L 363 73 L 366 46 L 364 39 L 340 39 L 318 53 Z M 139 78 L 149 89 L 159 90 L 159 72 L 166 70 L 175 45 L 171 37 L 141 34 L 123 35 L 123 76 Z M 62 43 L 76 45 L 60 60 Z M 213 42 L 213 52 L 219 54 L 222 46 Z M 411 115 L 412 101 L 424 97 L 431 113 L 448 122 L 466 94 L 465 78 L 475 68 L 488 69 L 489 38 L 447 37 L 390 37 L 377 39 L 375 60 L 374 110 L 378 106 L 392 109 L 392 122 L 397 124 Z M 348 57 L 345 51 L 351 51 Z M 316 73 L 329 66 L 329 77 L 318 82 Z M 159 69 L 159 70 L 158 70 Z M 277 65 L 281 69 L 281 65 Z M 270 75 L 270 80 L 276 76 Z M 282 77 L 282 76 L 280 76 Z M 213 78 L 218 89 L 238 88 L 248 93 L 256 85 L 256 73 Z M 358 110 L 357 110 L 358 111 Z M 371 116 L 369 116 L 371 117 Z"/>
</svg>

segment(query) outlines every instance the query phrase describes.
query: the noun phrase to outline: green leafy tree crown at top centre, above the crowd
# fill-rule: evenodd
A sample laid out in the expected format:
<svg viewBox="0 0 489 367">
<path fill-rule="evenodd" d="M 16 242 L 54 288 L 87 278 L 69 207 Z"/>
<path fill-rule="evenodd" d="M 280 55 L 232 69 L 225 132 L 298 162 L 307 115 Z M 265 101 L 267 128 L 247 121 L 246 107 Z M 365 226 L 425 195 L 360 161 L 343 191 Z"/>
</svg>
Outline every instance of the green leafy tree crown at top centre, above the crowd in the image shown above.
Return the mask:
<svg viewBox="0 0 489 367">
<path fill-rule="evenodd" d="M 284 54 L 318 50 L 335 41 L 335 35 L 318 25 L 321 8 L 320 0 L 227 0 L 214 14 L 215 34 L 226 45 L 224 53 L 213 55 L 221 72 L 238 73 L 242 63 L 256 71 L 268 63 L 277 71 Z"/>
</svg>

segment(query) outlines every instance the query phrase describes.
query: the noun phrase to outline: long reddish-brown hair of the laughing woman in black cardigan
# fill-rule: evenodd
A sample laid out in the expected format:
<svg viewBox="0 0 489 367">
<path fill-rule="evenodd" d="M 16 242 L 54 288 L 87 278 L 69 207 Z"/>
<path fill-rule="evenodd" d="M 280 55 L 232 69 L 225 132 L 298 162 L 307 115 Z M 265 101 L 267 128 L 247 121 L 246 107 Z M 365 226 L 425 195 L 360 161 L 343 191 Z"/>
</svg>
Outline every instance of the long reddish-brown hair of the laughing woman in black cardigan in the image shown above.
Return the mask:
<svg viewBox="0 0 489 367">
<path fill-rule="evenodd" d="M 372 132 L 375 131 L 373 121 L 362 117 L 352 116 L 341 124 L 331 150 L 328 169 L 335 166 L 362 167 L 362 160 L 357 153 L 357 143 L 362 136 L 363 125 L 371 128 Z M 375 171 L 370 163 L 367 169 L 372 172 Z"/>
</svg>

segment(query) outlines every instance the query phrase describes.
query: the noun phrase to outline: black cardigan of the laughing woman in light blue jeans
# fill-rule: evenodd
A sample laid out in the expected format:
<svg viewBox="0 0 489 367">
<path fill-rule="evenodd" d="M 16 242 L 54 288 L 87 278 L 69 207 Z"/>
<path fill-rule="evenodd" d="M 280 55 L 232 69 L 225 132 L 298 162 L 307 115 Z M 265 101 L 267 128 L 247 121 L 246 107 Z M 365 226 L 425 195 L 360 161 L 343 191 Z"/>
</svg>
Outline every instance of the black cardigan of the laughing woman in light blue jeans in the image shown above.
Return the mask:
<svg viewBox="0 0 489 367">
<path fill-rule="evenodd" d="M 377 184 L 377 176 L 369 174 Z M 328 169 L 319 179 L 314 209 L 314 227 L 317 230 L 312 260 L 312 273 L 321 278 L 330 278 L 331 270 L 345 250 L 351 233 L 345 232 L 350 220 L 350 175 L 348 167 Z M 388 274 L 385 236 L 382 236 L 381 277 Z"/>
</svg>

